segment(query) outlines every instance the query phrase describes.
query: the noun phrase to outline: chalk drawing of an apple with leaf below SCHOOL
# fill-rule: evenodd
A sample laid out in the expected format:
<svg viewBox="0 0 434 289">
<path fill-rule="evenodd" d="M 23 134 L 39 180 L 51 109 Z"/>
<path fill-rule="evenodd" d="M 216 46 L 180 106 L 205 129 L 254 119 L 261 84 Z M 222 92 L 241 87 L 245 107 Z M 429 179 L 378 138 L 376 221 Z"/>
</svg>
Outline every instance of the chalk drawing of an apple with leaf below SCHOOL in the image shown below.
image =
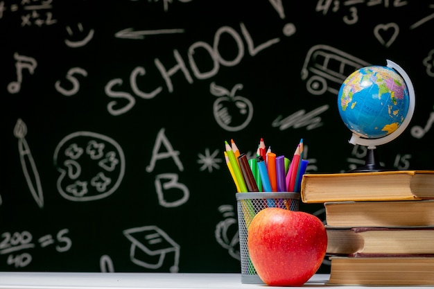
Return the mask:
<svg viewBox="0 0 434 289">
<path fill-rule="evenodd" d="M 238 132 L 247 127 L 253 117 L 253 105 L 243 96 L 236 96 L 236 91 L 243 89 L 243 85 L 238 83 L 232 89 L 220 87 L 212 82 L 209 91 L 217 100 L 214 101 L 213 113 L 218 125 L 228 132 Z"/>
</svg>

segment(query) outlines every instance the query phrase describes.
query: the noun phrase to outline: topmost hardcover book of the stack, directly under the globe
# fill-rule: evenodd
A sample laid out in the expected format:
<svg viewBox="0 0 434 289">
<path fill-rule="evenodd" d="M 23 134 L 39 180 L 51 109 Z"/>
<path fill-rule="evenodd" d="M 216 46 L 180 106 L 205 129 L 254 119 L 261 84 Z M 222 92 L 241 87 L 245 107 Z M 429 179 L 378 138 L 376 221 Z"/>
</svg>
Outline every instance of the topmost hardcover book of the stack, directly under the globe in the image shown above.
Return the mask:
<svg viewBox="0 0 434 289">
<path fill-rule="evenodd" d="M 434 170 L 305 174 L 305 203 L 434 199 Z"/>
</svg>

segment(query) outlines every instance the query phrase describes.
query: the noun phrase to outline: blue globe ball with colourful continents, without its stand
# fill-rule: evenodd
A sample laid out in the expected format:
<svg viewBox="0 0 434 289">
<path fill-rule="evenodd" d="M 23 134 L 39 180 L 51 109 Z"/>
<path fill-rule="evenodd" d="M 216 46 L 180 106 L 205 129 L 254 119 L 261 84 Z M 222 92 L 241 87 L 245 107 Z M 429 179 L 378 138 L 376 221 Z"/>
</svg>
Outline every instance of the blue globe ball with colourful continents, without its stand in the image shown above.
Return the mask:
<svg viewBox="0 0 434 289">
<path fill-rule="evenodd" d="M 351 73 L 338 94 L 338 110 L 347 128 L 360 137 L 391 134 L 408 113 L 410 97 L 403 78 L 389 67 L 363 67 Z"/>
</svg>

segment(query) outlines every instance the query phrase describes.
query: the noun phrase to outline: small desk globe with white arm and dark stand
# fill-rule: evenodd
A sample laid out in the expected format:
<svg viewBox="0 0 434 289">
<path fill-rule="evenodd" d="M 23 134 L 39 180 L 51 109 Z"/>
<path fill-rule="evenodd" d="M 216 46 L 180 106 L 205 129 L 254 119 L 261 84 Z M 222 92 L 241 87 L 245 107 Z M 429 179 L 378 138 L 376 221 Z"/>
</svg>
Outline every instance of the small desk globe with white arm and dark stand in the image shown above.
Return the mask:
<svg viewBox="0 0 434 289">
<path fill-rule="evenodd" d="M 365 166 L 350 172 L 386 170 L 377 161 L 376 146 L 399 137 L 413 117 L 413 83 L 398 64 L 387 63 L 354 71 L 339 89 L 339 114 L 352 132 L 349 143 L 367 146 Z"/>
</svg>

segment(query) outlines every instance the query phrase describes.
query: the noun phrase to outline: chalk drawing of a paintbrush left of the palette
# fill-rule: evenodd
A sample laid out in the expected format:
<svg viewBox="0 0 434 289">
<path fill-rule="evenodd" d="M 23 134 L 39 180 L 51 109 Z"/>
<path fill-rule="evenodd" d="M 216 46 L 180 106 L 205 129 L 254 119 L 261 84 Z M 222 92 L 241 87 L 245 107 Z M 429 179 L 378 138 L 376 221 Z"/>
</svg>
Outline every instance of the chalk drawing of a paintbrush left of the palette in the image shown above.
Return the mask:
<svg viewBox="0 0 434 289">
<path fill-rule="evenodd" d="M 26 178 L 28 189 L 30 189 L 33 199 L 37 205 L 44 207 L 44 194 L 42 192 L 42 185 L 40 175 L 37 172 L 35 160 L 33 159 L 32 152 L 28 147 L 26 141 L 27 125 L 21 119 L 18 119 L 14 128 L 14 136 L 18 139 L 19 159 L 21 161 L 21 168 L 23 169 L 24 177 Z"/>
</svg>

